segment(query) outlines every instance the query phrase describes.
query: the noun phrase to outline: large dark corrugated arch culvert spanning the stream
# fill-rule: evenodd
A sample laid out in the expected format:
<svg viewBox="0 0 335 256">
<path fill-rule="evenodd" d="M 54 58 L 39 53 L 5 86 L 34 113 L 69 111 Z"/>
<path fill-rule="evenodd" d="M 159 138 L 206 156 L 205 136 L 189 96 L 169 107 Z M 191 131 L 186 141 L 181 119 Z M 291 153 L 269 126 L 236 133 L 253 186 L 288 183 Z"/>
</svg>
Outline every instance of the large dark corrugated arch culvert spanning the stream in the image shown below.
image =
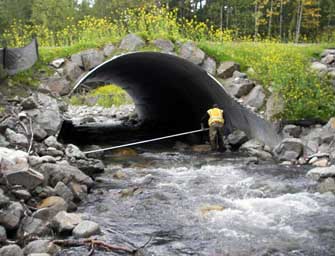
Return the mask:
<svg viewBox="0 0 335 256">
<path fill-rule="evenodd" d="M 201 67 L 175 55 L 134 52 L 114 57 L 83 76 L 73 92 L 81 86 L 95 88 L 106 84 L 117 84 L 127 91 L 146 128 L 101 127 L 96 130 L 97 139 L 105 136 L 128 142 L 196 130 L 206 110 L 217 103 L 225 112 L 226 133 L 237 128 L 269 146 L 279 142 L 271 123 L 236 102 Z M 59 137 L 83 141 L 90 138 L 86 128 L 63 127 Z"/>
</svg>

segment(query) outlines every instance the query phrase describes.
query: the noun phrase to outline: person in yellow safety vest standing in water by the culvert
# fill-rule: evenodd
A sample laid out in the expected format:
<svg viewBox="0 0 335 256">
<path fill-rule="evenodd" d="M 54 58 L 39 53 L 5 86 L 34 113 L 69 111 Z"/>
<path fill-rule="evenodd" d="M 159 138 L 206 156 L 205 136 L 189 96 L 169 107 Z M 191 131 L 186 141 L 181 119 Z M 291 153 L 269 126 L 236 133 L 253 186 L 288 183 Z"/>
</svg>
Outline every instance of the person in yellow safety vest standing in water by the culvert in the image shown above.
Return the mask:
<svg viewBox="0 0 335 256">
<path fill-rule="evenodd" d="M 201 128 L 204 127 L 205 120 L 208 120 L 209 126 L 209 142 L 212 150 L 223 150 L 224 149 L 224 112 L 219 108 L 217 104 L 207 110 L 206 114 L 201 119 Z"/>
</svg>

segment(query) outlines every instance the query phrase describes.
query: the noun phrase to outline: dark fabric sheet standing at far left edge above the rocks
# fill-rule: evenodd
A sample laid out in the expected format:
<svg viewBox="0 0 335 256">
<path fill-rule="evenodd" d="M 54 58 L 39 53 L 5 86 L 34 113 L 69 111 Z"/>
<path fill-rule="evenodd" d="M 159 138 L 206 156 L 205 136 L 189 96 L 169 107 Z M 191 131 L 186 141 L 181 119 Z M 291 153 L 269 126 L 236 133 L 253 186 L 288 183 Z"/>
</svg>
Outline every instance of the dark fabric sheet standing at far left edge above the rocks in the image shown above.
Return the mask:
<svg viewBox="0 0 335 256">
<path fill-rule="evenodd" d="M 36 39 L 22 48 L 1 48 L 0 70 L 7 75 L 14 75 L 33 66 L 37 59 L 38 45 Z"/>
</svg>

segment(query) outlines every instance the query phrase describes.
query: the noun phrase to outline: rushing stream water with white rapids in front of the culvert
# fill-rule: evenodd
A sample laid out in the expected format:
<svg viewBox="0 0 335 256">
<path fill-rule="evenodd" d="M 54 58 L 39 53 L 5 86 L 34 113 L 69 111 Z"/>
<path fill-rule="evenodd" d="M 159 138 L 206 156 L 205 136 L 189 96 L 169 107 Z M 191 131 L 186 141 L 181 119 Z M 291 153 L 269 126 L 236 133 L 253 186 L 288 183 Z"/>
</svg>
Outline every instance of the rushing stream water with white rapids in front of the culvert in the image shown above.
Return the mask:
<svg viewBox="0 0 335 256">
<path fill-rule="evenodd" d="M 335 196 L 318 193 L 306 169 L 171 151 L 106 164 L 79 212 L 108 243 L 133 248 L 151 239 L 143 255 L 155 256 L 335 255 Z"/>
</svg>

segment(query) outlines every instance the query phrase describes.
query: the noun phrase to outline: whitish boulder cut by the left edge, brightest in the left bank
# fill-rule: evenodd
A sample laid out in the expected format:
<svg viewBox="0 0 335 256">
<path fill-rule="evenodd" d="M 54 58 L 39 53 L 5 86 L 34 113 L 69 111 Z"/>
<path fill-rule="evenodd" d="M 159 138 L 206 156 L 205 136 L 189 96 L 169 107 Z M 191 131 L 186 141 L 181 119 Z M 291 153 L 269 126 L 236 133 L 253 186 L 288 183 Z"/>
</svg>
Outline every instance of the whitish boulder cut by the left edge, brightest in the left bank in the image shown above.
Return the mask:
<svg viewBox="0 0 335 256">
<path fill-rule="evenodd" d="M 2 173 L 27 171 L 29 169 L 28 154 L 20 150 L 0 148 L 0 167 Z"/>
</svg>

